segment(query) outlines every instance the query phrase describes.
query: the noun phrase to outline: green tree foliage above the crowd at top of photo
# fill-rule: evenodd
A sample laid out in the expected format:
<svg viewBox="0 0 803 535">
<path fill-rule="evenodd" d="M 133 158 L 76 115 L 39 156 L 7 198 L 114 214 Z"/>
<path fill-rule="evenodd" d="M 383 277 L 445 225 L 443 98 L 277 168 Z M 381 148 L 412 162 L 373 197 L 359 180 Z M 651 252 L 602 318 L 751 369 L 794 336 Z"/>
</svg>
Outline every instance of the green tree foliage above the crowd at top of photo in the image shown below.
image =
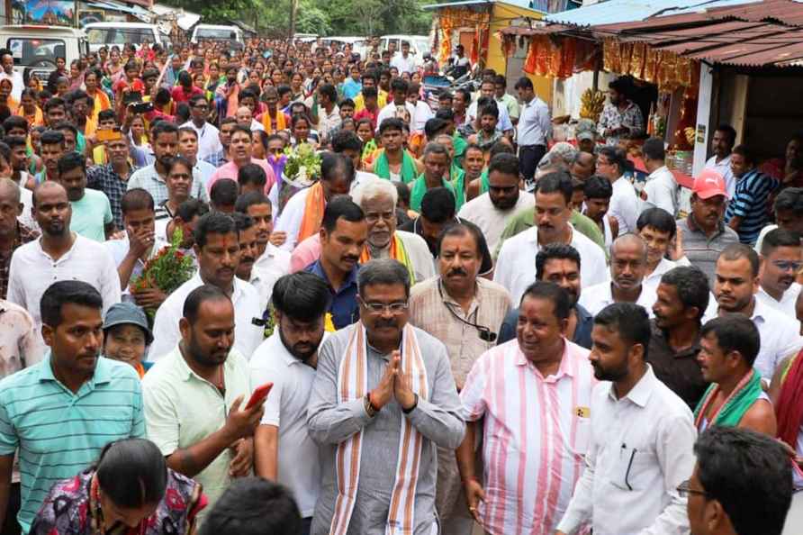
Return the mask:
<svg viewBox="0 0 803 535">
<path fill-rule="evenodd" d="M 286 35 L 291 0 L 167 0 L 203 16 L 204 23 L 239 20 L 266 35 Z M 431 12 L 421 5 L 431 0 L 299 0 L 296 32 L 319 35 L 426 34 Z"/>
</svg>

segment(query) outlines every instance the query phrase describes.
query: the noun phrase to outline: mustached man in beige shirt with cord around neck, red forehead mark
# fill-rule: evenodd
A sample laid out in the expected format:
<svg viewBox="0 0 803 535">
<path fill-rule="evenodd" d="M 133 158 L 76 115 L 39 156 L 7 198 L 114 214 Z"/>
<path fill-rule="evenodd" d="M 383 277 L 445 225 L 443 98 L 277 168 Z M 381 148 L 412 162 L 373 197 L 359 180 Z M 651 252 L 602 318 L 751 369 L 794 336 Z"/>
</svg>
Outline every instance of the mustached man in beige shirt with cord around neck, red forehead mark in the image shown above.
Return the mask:
<svg viewBox="0 0 803 535">
<path fill-rule="evenodd" d="M 518 172 L 518 171 L 517 171 Z M 410 322 L 441 340 L 447 347 L 457 390 L 474 362 L 496 341 L 496 329 L 510 310 L 504 287 L 478 277 L 483 262 L 480 233 L 456 223 L 438 239 L 439 277 L 412 287 Z M 460 474 L 454 449 L 438 449 L 438 515 L 446 533 L 467 533 L 472 515 L 459 498 Z"/>
</svg>

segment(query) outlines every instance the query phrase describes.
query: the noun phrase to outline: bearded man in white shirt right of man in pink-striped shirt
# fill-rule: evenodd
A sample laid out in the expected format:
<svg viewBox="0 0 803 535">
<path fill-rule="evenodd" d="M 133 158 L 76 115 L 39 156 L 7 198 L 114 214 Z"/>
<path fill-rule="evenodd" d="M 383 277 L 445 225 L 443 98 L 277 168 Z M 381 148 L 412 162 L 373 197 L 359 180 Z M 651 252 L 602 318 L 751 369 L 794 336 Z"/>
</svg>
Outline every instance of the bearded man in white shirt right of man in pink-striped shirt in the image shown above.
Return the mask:
<svg viewBox="0 0 803 535">
<path fill-rule="evenodd" d="M 689 407 L 649 364 L 650 322 L 641 306 L 610 304 L 594 318 L 589 359 L 601 382 L 585 470 L 555 535 L 688 533 L 686 499 L 675 489 L 694 467 L 697 432 Z"/>
</svg>

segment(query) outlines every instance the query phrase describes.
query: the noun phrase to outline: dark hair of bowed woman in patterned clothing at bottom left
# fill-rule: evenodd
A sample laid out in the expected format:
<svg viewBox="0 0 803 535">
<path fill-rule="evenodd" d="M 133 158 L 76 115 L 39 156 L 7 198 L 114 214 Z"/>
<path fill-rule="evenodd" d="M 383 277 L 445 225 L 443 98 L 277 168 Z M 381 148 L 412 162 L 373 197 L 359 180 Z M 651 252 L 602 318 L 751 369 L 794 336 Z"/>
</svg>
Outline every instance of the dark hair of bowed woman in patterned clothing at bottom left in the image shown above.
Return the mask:
<svg viewBox="0 0 803 535">
<path fill-rule="evenodd" d="M 101 490 L 118 507 L 138 509 L 159 503 L 167 488 L 167 461 L 157 445 L 145 439 L 109 442 L 95 463 Z"/>
</svg>

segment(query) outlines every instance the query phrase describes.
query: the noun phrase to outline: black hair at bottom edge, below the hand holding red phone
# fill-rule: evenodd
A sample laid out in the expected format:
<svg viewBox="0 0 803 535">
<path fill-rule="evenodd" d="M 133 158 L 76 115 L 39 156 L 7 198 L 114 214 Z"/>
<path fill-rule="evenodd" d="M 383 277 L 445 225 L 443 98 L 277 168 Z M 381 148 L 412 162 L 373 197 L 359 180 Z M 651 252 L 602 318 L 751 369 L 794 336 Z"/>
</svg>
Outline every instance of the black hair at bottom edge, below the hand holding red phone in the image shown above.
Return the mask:
<svg viewBox="0 0 803 535">
<path fill-rule="evenodd" d="M 206 515 L 198 535 L 299 535 L 293 493 L 261 477 L 235 479 Z"/>
</svg>

